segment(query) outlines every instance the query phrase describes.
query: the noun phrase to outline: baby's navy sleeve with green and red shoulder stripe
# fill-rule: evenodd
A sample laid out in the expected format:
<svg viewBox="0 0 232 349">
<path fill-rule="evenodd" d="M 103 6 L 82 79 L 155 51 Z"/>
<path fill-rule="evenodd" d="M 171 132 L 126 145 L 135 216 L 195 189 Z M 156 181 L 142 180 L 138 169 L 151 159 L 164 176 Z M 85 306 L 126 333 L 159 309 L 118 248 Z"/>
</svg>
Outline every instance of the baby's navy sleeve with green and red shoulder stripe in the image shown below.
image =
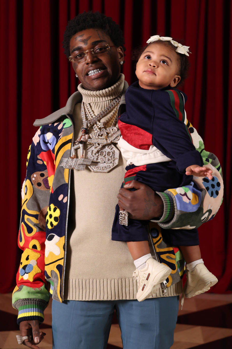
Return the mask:
<svg viewBox="0 0 232 349">
<path fill-rule="evenodd" d="M 154 107 L 152 143 L 164 155 L 176 162 L 180 173 L 190 165 L 203 166 L 200 153 L 192 143 L 184 123 L 184 97 L 178 90 L 156 90 L 151 95 Z"/>
</svg>

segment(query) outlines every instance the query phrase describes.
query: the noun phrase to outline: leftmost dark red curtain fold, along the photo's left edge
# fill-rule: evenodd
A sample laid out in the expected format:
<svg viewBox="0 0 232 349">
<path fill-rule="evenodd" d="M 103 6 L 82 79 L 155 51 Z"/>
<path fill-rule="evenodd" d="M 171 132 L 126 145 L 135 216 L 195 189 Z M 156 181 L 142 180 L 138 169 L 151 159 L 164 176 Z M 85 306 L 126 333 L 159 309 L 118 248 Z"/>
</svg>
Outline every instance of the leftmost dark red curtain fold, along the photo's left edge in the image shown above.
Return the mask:
<svg viewBox="0 0 232 349">
<path fill-rule="evenodd" d="M 0 292 L 9 292 L 15 285 L 15 273 L 19 263 L 19 250 L 16 248 L 20 200 L 20 173 L 17 133 L 17 3 L 12 0 L 0 1 L 0 105 L 1 105 L 1 248 L 3 252 L 3 279 Z M 9 118 L 11 116 L 11 119 Z M 9 183 L 11 179 L 11 184 Z M 17 190 L 16 190 L 16 187 Z M 7 210 L 6 210 L 7 208 Z M 19 264 L 18 264 L 19 265 Z"/>
</svg>

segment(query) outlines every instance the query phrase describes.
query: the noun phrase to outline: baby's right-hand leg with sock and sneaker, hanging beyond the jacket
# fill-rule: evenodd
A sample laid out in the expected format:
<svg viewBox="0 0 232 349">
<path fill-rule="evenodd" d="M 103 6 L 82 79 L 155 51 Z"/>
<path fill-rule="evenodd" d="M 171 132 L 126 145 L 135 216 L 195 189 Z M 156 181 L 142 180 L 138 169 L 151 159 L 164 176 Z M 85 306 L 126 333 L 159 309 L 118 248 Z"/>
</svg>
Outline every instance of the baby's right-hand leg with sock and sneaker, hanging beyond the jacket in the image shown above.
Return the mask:
<svg viewBox="0 0 232 349">
<path fill-rule="evenodd" d="M 190 298 L 206 292 L 217 283 L 217 278 L 204 265 L 200 246 L 179 246 L 186 261 L 185 297 Z"/>
</svg>

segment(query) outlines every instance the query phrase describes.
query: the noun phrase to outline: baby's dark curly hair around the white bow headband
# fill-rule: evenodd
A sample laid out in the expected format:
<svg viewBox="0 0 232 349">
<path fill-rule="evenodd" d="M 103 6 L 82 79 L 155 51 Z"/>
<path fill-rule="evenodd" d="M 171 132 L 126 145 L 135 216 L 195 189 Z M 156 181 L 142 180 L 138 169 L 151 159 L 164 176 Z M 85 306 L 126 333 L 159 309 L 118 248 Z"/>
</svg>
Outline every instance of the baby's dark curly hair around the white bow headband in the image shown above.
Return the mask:
<svg viewBox="0 0 232 349">
<path fill-rule="evenodd" d="M 173 40 L 175 40 L 175 39 L 173 39 Z M 136 62 L 137 62 L 139 60 L 139 58 L 141 57 L 142 53 L 151 44 L 162 44 L 162 45 L 166 45 L 166 46 L 168 45 L 176 52 L 176 46 L 174 46 L 170 41 L 157 40 L 157 41 L 153 41 L 152 43 L 147 44 L 143 48 L 140 47 L 140 48 L 134 50 L 133 55 L 132 55 L 132 59 L 136 60 Z M 181 81 L 178 82 L 178 84 L 176 85 L 176 87 L 177 87 L 179 85 L 182 85 L 184 80 L 186 79 L 186 77 L 188 75 L 190 63 L 189 63 L 188 57 L 185 54 L 178 53 L 178 52 L 176 52 L 176 54 L 178 55 L 178 58 L 179 58 L 179 71 L 177 74 L 181 77 Z"/>
</svg>

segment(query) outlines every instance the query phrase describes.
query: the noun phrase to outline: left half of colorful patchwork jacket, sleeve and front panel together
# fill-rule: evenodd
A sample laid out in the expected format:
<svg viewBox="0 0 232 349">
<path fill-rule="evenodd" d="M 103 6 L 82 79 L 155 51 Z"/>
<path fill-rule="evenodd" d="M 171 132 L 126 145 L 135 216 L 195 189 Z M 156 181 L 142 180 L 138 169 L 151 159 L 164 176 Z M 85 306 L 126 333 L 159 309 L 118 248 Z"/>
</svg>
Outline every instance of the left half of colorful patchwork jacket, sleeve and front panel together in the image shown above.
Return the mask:
<svg viewBox="0 0 232 349">
<path fill-rule="evenodd" d="M 43 310 L 53 293 L 53 280 L 54 294 L 58 292 L 57 298 L 61 298 L 68 170 L 60 167 L 59 162 L 65 152 L 70 155 L 72 141 L 70 119 L 64 116 L 61 120 L 40 126 L 27 155 L 18 235 L 23 253 L 13 292 L 18 323 L 43 321 Z M 55 270 L 53 280 L 51 269 Z"/>
</svg>

